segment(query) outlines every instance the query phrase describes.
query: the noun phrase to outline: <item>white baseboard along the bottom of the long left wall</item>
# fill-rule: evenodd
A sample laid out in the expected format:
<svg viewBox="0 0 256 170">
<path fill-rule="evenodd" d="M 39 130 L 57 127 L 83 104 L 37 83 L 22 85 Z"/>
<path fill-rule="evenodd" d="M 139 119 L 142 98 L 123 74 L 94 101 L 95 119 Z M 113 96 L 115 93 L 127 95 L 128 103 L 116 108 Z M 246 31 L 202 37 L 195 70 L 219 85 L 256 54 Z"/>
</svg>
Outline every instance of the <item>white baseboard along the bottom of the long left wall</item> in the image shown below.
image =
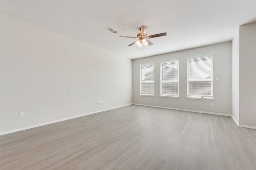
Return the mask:
<svg viewBox="0 0 256 170">
<path fill-rule="evenodd" d="M 119 108 L 119 107 L 124 107 L 124 106 L 129 106 L 129 105 L 132 105 L 132 104 L 126 104 L 126 105 L 122 105 L 122 106 L 111 107 L 111 108 L 108 108 L 108 109 L 93 111 L 93 112 L 90 112 L 90 113 L 84 113 L 84 114 L 82 114 L 82 115 L 76 115 L 76 116 L 67 117 L 67 118 L 64 118 L 64 119 L 58 119 L 58 120 L 49 121 L 49 122 L 46 122 L 46 123 L 40 123 L 40 124 L 37 124 L 37 125 L 31 125 L 31 126 L 27 126 L 27 127 L 22 127 L 22 128 L 18 128 L 18 129 L 13 129 L 13 130 L 10 130 L 10 131 L 5 131 L 5 132 L 0 133 L 0 136 L 1 136 L 1 135 L 6 135 L 6 134 L 8 134 L 8 133 L 14 133 L 14 132 L 18 132 L 18 131 L 23 131 L 23 130 L 31 129 L 31 128 L 34 128 L 34 127 L 39 127 L 39 126 L 44 126 L 44 125 L 48 125 L 48 124 L 52 124 L 52 123 L 57 123 L 57 122 L 60 122 L 60 121 L 65 121 L 65 120 L 69 120 L 69 119 L 74 119 L 74 118 L 77 118 L 77 117 L 82 117 L 82 116 L 86 116 L 86 115 L 91 115 L 91 114 L 94 114 L 94 113 L 99 113 L 99 112 L 102 112 L 102 111 L 107 111 L 107 110 L 116 109 L 116 108 Z"/>
</svg>

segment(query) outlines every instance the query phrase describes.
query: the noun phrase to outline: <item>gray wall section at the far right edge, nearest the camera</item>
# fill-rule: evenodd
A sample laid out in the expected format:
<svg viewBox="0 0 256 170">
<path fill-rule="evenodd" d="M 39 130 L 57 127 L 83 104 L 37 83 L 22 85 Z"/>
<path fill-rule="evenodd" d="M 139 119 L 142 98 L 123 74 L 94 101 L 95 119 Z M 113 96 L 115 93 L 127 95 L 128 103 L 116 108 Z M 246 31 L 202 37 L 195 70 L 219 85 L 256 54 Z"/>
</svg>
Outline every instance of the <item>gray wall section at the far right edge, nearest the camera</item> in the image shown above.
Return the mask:
<svg viewBox="0 0 256 170">
<path fill-rule="evenodd" d="M 240 26 L 239 124 L 256 127 L 256 22 Z"/>
</svg>

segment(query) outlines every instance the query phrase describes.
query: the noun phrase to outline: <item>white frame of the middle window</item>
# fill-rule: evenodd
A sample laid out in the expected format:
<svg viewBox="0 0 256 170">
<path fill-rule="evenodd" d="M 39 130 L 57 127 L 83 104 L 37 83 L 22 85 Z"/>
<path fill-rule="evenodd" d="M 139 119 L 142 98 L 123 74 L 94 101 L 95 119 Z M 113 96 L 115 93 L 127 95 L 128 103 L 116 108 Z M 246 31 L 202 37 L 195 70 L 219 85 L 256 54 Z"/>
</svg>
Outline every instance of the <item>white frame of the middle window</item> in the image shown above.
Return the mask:
<svg viewBox="0 0 256 170">
<path fill-rule="evenodd" d="M 178 80 L 162 80 L 163 76 L 163 63 L 171 63 L 171 62 L 177 62 L 178 61 Z M 166 61 L 160 61 L 160 97 L 169 97 L 169 98 L 180 98 L 180 59 L 172 59 L 172 60 L 166 60 Z M 168 95 L 168 94 L 162 94 L 162 83 L 178 83 L 178 94 L 177 95 Z"/>
</svg>

